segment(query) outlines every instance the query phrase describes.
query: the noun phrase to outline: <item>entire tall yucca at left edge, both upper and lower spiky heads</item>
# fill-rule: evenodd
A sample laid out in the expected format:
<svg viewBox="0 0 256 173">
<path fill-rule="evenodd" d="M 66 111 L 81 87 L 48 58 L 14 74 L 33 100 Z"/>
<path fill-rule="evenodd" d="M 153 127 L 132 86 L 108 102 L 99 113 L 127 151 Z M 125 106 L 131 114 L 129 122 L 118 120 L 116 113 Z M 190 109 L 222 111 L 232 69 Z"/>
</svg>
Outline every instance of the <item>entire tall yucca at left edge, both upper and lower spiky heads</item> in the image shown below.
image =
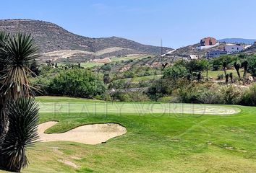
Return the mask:
<svg viewBox="0 0 256 173">
<path fill-rule="evenodd" d="M 32 143 L 34 138 L 30 138 L 35 131 L 36 123 L 23 122 L 28 126 L 15 126 L 22 121 L 21 116 L 26 120 L 37 120 L 38 114 L 35 110 L 32 114 L 35 119 L 29 118 L 31 115 L 31 107 L 35 102 L 31 102 L 30 97 L 33 96 L 32 87 L 29 85 L 27 76 L 30 74 L 30 64 L 35 58 L 38 58 L 38 48 L 31 35 L 17 33 L 16 35 L 8 35 L 4 32 L 0 34 L 0 115 L 1 115 L 1 130 L 0 130 L 0 165 L 3 169 L 20 172 L 20 169 L 27 164 L 25 158 L 25 147 L 27 143 Z M 24 102 L 30 104 L 20 104 L 20 99 L 28 99 Z M 11 104 L 16 104 L 16 110 L 26 110 L 21 114 L 14 114 L 15 107 Z M 33 110 L 33 109 L 32 109 Z M 19 116 L 18 116 L 19 115 Z M 32 116 L 31 115 L 31 116 Z M 25 121 L 25 119 L 23 119 Z M 30 130 L 26 134 L 26 130 Z M 22 138 L 20 135 L 26 136 Z M 20 141 L 19 141 L 20 140 Z M 11 143 L 15 147 L 9 146 Z M 22 141 L 22 142 L 21 142 Z M 9 146 L 9 147 L 8 147 Z M 17 150 L 23 148 L 23 150 Z M 12 151 L 11 151 L 12 150 Z"/>
</svg>

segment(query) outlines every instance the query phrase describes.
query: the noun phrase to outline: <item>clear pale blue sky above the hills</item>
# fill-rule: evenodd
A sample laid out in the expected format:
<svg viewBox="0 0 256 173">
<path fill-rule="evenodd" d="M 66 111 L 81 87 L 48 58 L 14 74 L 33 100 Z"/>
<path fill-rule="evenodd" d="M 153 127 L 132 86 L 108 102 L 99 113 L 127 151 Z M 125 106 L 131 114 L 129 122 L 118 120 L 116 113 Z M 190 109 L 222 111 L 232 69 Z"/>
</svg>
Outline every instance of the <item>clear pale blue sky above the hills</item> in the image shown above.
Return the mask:
<svg viewBox="0 0 256 173">
<path fill-rule="evenodd" d="M 88 37 L 179 48 L 201 37 L 256 38 L 255 0 L 9 0 L 1 19 L 54 22 Z"/>
</svg>

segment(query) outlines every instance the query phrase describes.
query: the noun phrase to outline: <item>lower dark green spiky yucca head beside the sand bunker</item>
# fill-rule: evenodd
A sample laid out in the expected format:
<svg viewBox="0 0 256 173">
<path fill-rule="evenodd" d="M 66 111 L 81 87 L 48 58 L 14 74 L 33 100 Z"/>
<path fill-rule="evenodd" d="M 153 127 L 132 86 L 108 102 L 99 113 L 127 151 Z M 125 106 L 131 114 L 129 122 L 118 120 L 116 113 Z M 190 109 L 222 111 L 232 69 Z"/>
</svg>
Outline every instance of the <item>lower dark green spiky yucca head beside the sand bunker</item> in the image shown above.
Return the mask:
<svg viewBox="0 0 256 173">
<path fill-rule="evenodd" d="M 20 98 L 8 104 L 9 130 L 1 143 L 6 168 L 20 172 L 28 164 L 25 148 L 38 139 L 38 105 L 34 99 Z"/>
</svg>

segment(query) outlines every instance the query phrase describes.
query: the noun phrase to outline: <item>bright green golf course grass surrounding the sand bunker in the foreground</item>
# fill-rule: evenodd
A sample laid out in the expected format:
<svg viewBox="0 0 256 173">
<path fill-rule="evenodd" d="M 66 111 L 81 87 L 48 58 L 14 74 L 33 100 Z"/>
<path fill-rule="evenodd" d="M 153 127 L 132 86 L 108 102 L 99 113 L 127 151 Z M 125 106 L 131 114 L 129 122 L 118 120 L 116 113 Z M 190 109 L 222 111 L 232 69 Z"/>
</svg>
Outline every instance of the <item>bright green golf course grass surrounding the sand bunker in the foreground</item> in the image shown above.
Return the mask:
<svg viewBox="0 0 256 173">
<path fill-rule="evenodd" d="M 48 133 L 108 122 L 124 125 L 127 133 L 98 145 L 37 143 L 28 150 L 30 165 L 23 172 L 256 172 L 256 107 L 177 105 L 197 111 L 207 107 L 216 110 L 214 114 L 223 109 L 241 110 L 234 115 L 197 115 L 178 110 L 163 113 L 166 104 L 153 102 L 112 104 L 68 97 L 37 100 L 43 105 L 40 123 L 59 121 Z M 69 112 L 67 102 L 71 104 Z M 54 103 L 63 103 L 63 110 L 51 112 Z M 88 107 L 87 113 L 80 112 L 82 105 Z M 121 105 L 121 112 L 116 112 L 115 107 Z M 153 113 L 137 112 L 142 106 L 153 107 Z M 60 160 L 71 161 L 78 168 Z"/>
</svg>

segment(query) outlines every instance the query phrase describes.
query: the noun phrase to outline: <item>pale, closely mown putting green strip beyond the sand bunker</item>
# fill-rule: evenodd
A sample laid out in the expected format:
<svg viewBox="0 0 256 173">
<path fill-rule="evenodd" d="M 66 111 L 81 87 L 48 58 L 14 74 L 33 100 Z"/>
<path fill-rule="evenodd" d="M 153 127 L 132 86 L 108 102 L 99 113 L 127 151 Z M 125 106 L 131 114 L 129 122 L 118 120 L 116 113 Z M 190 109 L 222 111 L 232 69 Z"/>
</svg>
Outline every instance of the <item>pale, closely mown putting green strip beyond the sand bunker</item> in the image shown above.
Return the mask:
<svg viewBox="0 0 256 173">
<path fill-rule="evenodd" d="M 42 99 L 42 98 L 41 98 Z M 40 101 L 40 99 L 39 99 Z M 135 113 L 143 114 L 191 114 L 191 115 L 231 115 L 240 112 L 239 108 L 222 105 L 141 103 L 141 102 L 98 102 L 86 99 L 40 102 L 40 112 L 56 113 Z"/>
</svg>

